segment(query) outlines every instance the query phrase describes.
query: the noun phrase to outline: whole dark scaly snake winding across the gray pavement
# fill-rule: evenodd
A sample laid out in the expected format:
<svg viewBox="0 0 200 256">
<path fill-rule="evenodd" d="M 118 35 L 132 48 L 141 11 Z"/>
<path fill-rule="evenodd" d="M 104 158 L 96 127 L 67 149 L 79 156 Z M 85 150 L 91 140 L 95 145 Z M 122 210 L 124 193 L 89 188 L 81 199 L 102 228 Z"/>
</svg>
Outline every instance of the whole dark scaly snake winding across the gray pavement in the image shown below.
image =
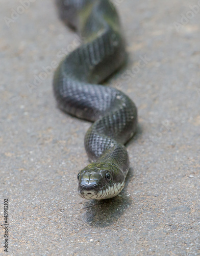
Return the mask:
<svg viewBox="0 0 200 256">
<path fill-rule="evenodd" d="M 126 183 L 130 160 L 126 143 L 136 133 L 137 107 L 121 90 L 104 82 L 127 59 L 126 42 L 113 1 L 57 0 L 61 19 L 81 37 L 54 73 L 58 108 L 92 122 L 84 146 L 90 163 L 78 174 L 84 199 L 117 196 Z"/>
</svg>

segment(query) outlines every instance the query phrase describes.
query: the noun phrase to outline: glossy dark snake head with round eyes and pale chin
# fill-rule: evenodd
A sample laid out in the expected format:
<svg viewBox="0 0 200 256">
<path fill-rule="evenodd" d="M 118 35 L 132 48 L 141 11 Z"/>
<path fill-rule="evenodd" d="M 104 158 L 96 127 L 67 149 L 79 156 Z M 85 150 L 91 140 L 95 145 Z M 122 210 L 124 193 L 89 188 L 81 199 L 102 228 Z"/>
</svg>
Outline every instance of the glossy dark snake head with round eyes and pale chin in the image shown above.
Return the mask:
<svg viewBox="0 0 200 256">
<path fill-rule="evenodd" d="M 94 162 L 78 174 L 78 194 L 85 199 L 115 197 L 124 187 L 125 176 L 114 163 Z"/>
</svg>

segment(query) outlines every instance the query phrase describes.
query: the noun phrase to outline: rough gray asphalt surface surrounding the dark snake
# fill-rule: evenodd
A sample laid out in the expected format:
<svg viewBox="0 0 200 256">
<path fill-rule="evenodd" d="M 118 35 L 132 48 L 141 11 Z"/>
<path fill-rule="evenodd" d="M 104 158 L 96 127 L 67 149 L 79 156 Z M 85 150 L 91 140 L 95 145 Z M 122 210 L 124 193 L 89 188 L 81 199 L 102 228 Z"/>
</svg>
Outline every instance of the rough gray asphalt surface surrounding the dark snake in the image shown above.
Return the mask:
<svg viewBox="0 0 200 256">
<path fill-rule="evenodd" d="M 6 255 L 200 255 L 200 2 L 113 1 L 129 60 L 107 84 L 134 100 L 139 125 L 120 196 L 84 201 L 90 123 L 52 92 L 53 68 L 80 40 L 53 0 L 27 1 L 0 10 L 0 254 L 8 198 Z"/>
</svg>

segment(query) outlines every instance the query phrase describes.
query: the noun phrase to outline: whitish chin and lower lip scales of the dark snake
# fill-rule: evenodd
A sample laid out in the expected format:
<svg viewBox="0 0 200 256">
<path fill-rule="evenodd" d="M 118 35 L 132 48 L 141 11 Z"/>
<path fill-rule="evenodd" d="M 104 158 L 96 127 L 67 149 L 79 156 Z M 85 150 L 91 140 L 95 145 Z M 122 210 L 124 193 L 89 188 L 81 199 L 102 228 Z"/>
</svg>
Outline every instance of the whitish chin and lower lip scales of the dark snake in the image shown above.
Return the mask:
<svg viewBox="0 0 200 256">
<path fill-rule="evenodd" d="M 121 190 L 123 189 L 125 185 L 125 182 L 123 181 L 122 183 L 118 184 L 113 184 L 112 186 L 109 186 L 108 188 L 99 191 L 98 193 L 95 190 L 90 190 L 90 191 L 83 191 L 81 193 L 80 190 L 78 190 L 78 194 L 80 197 L 90 200 L 90 199 L 95 199 L 95 200 L 102 200 L 102 199 L 109 199 L 112 197 L 117 196 Z"/>
</svg>

